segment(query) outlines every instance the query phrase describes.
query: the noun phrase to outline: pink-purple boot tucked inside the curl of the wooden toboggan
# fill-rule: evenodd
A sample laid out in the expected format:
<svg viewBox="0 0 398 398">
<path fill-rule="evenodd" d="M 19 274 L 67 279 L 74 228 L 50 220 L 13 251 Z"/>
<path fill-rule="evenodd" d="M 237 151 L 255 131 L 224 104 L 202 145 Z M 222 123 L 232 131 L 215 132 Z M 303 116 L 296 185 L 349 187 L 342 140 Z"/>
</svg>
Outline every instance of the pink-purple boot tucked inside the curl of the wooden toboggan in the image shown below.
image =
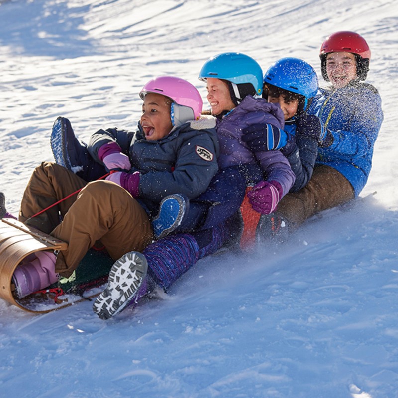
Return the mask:
<svg viewBox="0 0 398 398">
<path fill-rule="evenodd" d="M 40 251 L 34 255 L 35 258 L 29 263 L 18 265 L 12 276 L 18 298 L 23 298 L 58 281 L 58 274 L 55 273 L 55 254 Z"/>
</svg>

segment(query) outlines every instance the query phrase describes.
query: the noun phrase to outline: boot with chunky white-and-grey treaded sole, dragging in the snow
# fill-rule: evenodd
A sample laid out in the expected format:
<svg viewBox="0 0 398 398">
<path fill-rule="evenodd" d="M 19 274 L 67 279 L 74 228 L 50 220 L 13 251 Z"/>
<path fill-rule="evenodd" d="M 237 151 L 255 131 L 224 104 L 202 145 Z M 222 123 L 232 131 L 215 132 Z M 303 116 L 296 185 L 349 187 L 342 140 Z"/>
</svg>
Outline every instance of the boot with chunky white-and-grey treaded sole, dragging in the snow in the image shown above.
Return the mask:
<svg viewBox="0 0 398 398">
<path fill-rule="evenodd" d="M 93 304 L 93 311 L 101 319 L 121 312 L 127 304 L 136 303 L 147 293 L 147 269 L 145 256 L 129 252 L 120 257 L 109 271 L 108 284 Z"/>
</svg>

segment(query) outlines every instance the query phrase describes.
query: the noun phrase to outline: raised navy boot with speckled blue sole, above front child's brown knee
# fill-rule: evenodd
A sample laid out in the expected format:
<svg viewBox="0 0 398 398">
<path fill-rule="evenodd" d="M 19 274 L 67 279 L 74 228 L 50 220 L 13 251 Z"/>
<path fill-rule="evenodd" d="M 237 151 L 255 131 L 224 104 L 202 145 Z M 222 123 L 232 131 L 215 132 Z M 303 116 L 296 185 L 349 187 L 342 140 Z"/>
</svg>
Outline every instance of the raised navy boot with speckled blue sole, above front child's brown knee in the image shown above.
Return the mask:
<svg viewBox="0 0 398 398">
<path fill-rule="evenodd" d="M 55 162 L 85 181 L 97 180 L 106 173 L 105 167 L 91 157 L 86 143 L 76 138 L 67 118 L 59 116 L 55 120 L 50 144 Z"/>
</svg>

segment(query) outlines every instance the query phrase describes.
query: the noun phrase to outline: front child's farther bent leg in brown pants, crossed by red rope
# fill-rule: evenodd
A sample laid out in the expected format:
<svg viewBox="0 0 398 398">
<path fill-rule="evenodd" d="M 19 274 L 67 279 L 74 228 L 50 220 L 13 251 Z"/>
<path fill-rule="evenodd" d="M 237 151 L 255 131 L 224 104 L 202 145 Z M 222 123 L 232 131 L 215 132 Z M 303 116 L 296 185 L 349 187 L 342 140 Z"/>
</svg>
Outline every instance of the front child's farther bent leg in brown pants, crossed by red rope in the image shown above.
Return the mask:
<svg viewBox="0 0 398 398">
<path fill-rule="evenodd" d="M 62 201 L 44 213 L 29 219 L 34 214 L 54 204 L 69 194 L 83 188 L 86 181 L 55 163 L 43 162 L 36 167 L 21 201 L 19 220 L 50 233 L 59 223 L 60 214 L 65 215 L 77 195 Z"/>
</svg>

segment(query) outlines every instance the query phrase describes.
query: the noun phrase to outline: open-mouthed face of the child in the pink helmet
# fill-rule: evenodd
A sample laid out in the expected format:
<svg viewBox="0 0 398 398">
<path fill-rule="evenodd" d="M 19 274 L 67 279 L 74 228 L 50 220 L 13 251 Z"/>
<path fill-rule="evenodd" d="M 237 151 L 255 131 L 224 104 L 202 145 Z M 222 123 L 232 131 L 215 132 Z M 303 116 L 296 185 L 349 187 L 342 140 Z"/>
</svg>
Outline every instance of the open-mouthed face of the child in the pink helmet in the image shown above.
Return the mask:
<svg viewBox="0 0 398 398">
<path fill-rule="evenodd" d="M 148 141 L 160 140 L 172 130 L 170 105 L 171 100 L 161 94 L 145 95 L 140 123 Z"/>
</svg>

